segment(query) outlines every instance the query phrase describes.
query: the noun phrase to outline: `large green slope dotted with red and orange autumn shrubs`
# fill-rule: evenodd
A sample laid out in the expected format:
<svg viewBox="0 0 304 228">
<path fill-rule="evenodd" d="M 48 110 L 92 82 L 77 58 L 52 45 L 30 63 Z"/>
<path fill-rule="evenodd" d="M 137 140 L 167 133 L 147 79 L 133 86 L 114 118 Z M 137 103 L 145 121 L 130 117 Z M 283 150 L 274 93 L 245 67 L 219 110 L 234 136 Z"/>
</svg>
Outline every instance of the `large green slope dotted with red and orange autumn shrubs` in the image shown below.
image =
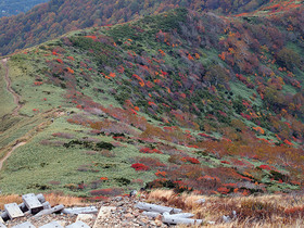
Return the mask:
<svg viewBox="0 0 304 228">
<path fill-rule="evenodd" d="M 302 14 L 231 20 L 178 9 L 12 55 L 23 129 L 35 119 L 43 127 L 5 163 L 1 191 L 301 189 Z"/>
</svg>

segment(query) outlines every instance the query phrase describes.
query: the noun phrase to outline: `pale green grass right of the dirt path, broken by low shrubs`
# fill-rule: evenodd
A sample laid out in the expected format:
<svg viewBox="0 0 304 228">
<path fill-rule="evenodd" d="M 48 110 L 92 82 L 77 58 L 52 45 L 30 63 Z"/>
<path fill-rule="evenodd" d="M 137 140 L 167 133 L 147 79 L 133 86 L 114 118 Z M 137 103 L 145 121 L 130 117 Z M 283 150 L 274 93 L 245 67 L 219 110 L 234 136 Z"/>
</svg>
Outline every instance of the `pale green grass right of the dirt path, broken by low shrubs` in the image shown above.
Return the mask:
<svg viewBox="0 0 304 228">
<path fill-rule="evenodd" d="M 87 191 L 75 192 L 65 188 L 68 183 L 80 183 L 84 181 L 89 185 L 93 180 L 99 180 L 100 177 L 109 177 L 109 181 L 102 185 L 101 188 L 115 187 L 118 183 L 115 178 L 127 178 L 152 180 L 154 172 L 147 173 L 136 172 L 130 167 L 132 157 L 142 155 L 139 154 L 135 145 L 126 144 L 126 148 L 115 148 L 113 153 L 115 157 L 105 157 L 97 152 L 94 155 L 86 154 L 88 149 L 81 148 L 64 148 L 42 145 L 41 140 L 49 139 L 51 141 L 68 142 L 72 139 L 60 139 L 51 136 L 53 132 L 69 132 L 75 135 L 75 138 L 81 139 L 87 137 L 88 128 L 78 125 L 71 125 L 66 122 L 66 117 L 56 118 L 53 124 L 47 127 L 43 131 L 35 136 L 27 144 L 16 149 L 5 163 L 4 169 L 0 173 L 1 191 L 3 193 L 25 193 L 28 191 L 39 192 L 43 186 L 46 190 L 60 190 L 69 194 L 86 194 Z M 113 141 L 110 137 L 93 137 L 98 140 L 110 142 Z M 147 155 L 160 157 L 165 162 L 167 155 Z M 114 165 L 111 168 L 104 168 L 106 165 Z M 81 165 L 92 165 L 94 172 L 79 172 Z M 60 186 L 52 186 L 50 181 L 60 181 Z M 37 185 L 39 183 L 39 186 Z M 138 183 L 132 183 L 128 188 L 137 188 Z M 91 189 L 90 189 L 91 190 Z"/>
</svg>

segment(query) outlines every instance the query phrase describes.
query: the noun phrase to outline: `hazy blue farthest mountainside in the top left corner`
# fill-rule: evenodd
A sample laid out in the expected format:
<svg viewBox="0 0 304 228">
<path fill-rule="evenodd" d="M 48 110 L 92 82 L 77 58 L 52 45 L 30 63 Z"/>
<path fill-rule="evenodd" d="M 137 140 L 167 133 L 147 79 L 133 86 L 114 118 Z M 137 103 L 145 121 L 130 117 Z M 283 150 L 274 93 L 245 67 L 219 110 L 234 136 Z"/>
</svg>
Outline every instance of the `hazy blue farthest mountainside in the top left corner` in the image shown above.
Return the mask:
<svg viewBox="0 0 304 228">
<path fill-rule="evenodd" d="M 33 7 L 48 0 L 10 0 L 0 2 L 0 17 L 29 11 Z"/>
</svg>

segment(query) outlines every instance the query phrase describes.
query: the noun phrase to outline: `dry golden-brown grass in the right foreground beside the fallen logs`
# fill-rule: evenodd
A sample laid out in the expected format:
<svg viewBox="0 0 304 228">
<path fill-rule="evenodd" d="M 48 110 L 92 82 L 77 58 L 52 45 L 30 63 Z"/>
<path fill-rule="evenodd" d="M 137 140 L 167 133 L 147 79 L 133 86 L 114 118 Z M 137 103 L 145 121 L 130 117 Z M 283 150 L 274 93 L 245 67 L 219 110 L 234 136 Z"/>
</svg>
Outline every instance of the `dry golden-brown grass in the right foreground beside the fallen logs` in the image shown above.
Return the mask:
<svg viewBox="0 0 304 228">
<path fill-rule="evenodd" d="M 199 199 L 205 199 L 205 203 L 198 204 Z M 186 193 L 177 195 L 173 191 L 155 190 L 149 193 L 148 201 L 162 202 L 165 205 L 193 213 L 195 218 L 202 218 L 205 221 L 206 227 L 304 227 L 303 194 L 219 198 Z M 288 214 L 288 210 L 295 211 L 295 213 Z M 224 223 L 223 215 L 229 215 L 232 218 L 232 211 L 237 212 L 237 218 L 230 223 Z M 207 225 L 206 221 L 216 224 Z"/>
</svg>

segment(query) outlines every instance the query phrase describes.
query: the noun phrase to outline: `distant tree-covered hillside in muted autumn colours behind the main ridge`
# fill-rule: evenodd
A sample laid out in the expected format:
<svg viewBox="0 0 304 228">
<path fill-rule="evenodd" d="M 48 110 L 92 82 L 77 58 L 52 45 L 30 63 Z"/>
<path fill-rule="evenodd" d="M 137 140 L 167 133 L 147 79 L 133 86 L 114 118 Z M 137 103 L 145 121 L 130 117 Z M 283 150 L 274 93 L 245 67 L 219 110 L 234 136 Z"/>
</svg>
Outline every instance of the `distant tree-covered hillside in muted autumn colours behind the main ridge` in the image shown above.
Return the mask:
<svg viewBox="0 0 304 228">
<path fill-rule="evenodd" d="M 185 7 L 195 11 L 212 10 L 221 14 L 251 12 L 269 2 L 262 0 L 52 0 L 30 12 L 0 20 L 0 54 L 31 47 L 67 31 L 124 23 L 142 15 L 157 14 Z"/>
</svg>

